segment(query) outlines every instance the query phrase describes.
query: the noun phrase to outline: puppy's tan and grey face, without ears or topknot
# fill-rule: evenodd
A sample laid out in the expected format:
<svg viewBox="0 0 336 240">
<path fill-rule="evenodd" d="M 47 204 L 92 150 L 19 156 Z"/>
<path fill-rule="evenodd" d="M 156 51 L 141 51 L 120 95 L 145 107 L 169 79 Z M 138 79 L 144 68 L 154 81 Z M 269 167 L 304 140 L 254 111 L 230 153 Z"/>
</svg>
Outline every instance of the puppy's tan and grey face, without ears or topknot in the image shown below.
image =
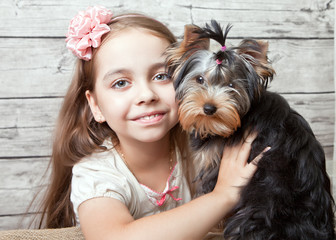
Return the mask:
<svg viewBox="0 0 336 240">
<path fill-rule="evenodd" d="M 253 82 L 258 75 L 235 51 L 227 50 L 221 64 L 213 52 L 196 51 L 181 63 L 174 79 L 183 129 L 202 138 L 233 134 L 250 108 L 257 87 Z"/>
</svg>

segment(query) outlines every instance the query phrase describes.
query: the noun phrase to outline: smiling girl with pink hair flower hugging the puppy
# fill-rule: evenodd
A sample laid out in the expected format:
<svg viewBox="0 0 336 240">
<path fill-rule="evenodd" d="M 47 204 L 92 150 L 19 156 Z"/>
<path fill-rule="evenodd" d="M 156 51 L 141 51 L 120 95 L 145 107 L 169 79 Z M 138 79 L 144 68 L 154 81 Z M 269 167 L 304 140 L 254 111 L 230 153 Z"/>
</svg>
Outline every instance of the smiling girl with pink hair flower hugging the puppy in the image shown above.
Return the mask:
<svg viewBox="0 0 336 240">
<path fill-rule="evenodd" d="M 79 59 L 41 224 L 80 224 L 87 239 L 201 239 L 254 173 L 253 137 L 225 150 L 213 192 L 190 201 L 193 168 L 163 55 L 173 34 L 144 15 L 93 7 L 72 20 L 66 41 Z"/>
</svg>

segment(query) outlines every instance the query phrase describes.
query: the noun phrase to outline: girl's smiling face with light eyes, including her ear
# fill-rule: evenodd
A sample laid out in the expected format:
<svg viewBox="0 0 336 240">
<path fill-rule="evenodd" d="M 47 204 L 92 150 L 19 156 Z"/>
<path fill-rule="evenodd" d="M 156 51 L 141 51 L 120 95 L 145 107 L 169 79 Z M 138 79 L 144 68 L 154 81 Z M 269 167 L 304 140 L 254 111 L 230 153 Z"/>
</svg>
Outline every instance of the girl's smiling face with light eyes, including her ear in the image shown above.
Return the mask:
<svg viewBox="0 0 336 240">
<path fill-rule="evenodd" d="M 96 121 L 106 121 L 120 141 L 154 142 L 178 121 L 163 52 L 169 42 L 128 28 L 108 39 L 95 56 L 95 91 L 86 92 Z"/>
</svg>

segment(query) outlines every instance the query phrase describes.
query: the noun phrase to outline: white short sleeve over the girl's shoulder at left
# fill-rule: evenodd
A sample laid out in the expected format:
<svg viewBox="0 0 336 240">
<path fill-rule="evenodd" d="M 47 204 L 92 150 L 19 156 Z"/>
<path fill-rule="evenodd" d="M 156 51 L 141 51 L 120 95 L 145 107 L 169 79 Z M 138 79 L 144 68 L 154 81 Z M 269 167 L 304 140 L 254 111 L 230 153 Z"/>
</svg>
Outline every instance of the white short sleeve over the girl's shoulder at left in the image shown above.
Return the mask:
<svg viewBox="0 0 336 240">
<path fill-rule="evenodd" d="M 114 198 L 133 209 L 134 186 L 136 181 L 113 147 L 84 157 L 72 168 L 70 199 L 76 221 L 78 206 L 92 198 Z"/>
</svg>

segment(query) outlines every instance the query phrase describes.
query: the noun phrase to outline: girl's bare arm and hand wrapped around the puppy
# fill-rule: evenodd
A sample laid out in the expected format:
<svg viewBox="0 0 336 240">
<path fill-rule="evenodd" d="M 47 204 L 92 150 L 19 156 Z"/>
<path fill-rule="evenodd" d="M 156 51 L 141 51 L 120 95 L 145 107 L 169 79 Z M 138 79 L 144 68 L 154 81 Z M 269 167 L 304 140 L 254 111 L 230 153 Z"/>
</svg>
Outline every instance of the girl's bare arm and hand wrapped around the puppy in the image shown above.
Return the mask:
<svg viewBox="0 0 336 240">
<path fill-rule="evenodd" d="M 255 172 L 256 164 L 247 164 L 253 138 L 225 149 L 215 189 L 180 207 L 134 220 L 127 207 L 116 199 L 83 202 L 78 211 L 85 238 L 202 239 L 236 204 L 239 186 L 245 185 Z"/>
</svg>

